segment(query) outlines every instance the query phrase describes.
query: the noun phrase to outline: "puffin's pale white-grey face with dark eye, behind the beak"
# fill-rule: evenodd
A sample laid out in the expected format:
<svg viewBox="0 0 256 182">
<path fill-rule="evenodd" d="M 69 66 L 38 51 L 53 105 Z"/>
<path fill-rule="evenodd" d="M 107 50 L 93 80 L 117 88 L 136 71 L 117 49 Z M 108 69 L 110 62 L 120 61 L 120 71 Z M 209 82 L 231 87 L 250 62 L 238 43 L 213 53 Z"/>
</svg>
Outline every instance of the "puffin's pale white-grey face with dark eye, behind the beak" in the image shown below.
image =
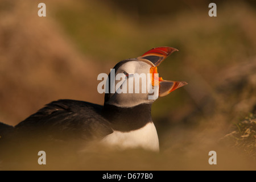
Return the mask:
<svg viewBox="0 0 256 182">
<path fill-rule="evenodd" d="M 115 71 L 115 93 L 110 94 L 111 104 L 119 107 L 132 107 L 149 104 L 158 98 L 159 86 L 152 86 L 150 68 L 143 61 L 127 61 Z"/>
</svg>

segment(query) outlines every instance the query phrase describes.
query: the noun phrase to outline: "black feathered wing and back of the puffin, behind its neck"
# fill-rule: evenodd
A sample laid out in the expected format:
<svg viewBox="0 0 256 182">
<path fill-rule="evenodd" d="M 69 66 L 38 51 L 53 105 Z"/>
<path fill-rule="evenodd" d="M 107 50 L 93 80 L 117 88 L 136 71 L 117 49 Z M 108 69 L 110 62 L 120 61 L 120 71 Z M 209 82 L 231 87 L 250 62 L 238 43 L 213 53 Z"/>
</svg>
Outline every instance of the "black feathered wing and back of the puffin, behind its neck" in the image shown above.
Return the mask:
<svg viewBox="0 0 256 182">
<path fill-rule="evenodd" d="M 113 133 L 110 123 L 101 116 L 102 106 L 75 100 L 47 104 L 15 126 L 18 134 L 52 139 L 103 138 Z"/>
</svg>

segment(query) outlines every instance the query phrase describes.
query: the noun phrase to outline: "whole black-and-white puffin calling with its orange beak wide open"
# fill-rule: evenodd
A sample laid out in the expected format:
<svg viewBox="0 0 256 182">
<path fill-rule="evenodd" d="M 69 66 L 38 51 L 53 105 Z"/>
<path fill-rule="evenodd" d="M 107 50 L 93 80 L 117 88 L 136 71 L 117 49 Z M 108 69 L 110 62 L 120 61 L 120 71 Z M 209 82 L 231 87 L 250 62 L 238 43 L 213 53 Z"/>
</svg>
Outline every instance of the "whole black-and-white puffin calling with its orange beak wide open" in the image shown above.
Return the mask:
<svg viewBox="0 0 256 182">
<path fill-rule="evenodd" d="M 14 127 L 1 123 L 0 136 L 82 143 L 97 141 L 121 150 L 142 148 L 158 152 L 152 103 L 187 85 L 185 81 L 158 77 L 157 67 L 175 51 L 178 50 L 172 47 L 156 47 L 142 56 L 117 63 L 106 80 L 104 105 L 68 99 L 53 101 Z M 146 75 L 146 80 L 141 77 L 136 82 L 135 75 Z"/>
</svg>

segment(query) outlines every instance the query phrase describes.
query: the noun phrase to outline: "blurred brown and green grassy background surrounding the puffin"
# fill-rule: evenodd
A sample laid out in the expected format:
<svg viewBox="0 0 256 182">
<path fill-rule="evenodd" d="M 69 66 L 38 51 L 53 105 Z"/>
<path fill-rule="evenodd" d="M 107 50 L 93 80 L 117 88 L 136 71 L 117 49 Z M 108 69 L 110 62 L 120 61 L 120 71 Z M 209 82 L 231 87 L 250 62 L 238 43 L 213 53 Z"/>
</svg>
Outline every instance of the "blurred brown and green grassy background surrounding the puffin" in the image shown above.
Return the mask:
<svg viewBox="0 0 256 182">
<path fill-rule="evenodd" d="M 38 16 L 40 2 L 46 17 Z M 208 15 L 211 2 L 217 17 Z M 179 52 L 159 66 L 159 76 L 188 85 L 152 106 L 160 154 L 93 154 L 48 167 L 255 170 L 255 10 L 254 1 L 0 0 L 0 121 L 15 126 L 65 98 L 102 105 L 99 73 L 169 46 Z"/>
</svg>

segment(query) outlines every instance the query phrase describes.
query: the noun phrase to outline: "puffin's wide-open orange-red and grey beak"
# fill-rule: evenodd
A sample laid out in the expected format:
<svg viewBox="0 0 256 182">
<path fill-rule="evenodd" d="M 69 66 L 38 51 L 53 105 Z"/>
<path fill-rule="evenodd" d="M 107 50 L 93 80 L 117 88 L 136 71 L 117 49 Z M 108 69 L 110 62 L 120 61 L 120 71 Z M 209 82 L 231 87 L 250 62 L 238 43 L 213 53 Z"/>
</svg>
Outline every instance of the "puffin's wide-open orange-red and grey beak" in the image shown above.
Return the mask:
<svg viewBox="0 0 256 182">
<path fill-rule="evenodd" d="M 138 60 L 144 61 L 151 64 L 150 73 L 152 73 L 152 86 L 154 86 L 155 80 L 159 80 L 159 97 L 168 95 L 170 92 L 180 88 L 181 86 L 187 85 L 185 81 L 167 81 L 163 80 L 162 77 L 155 78 L 154 73 L 158 73 L 158 65 L 162 63 L 166 57 L 168 57 L 172 52 L 178 51 L 172 47 L 157 47 L 152 48 L 147 51 L 142 56 L 137 57 Z"/>
</svg>

